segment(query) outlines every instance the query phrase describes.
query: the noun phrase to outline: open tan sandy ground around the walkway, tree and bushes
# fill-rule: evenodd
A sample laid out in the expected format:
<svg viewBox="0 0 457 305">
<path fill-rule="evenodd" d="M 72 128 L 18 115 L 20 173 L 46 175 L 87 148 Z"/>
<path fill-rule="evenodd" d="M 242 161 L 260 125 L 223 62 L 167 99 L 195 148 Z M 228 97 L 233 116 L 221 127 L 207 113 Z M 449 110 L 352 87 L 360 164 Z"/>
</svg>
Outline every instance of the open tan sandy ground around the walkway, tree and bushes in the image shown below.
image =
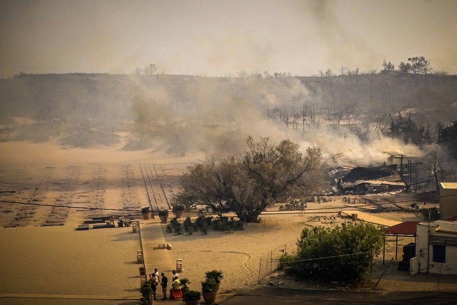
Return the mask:
<svg viewBox="0 0 457 305">
<path fill-rule="evenodd" d="M 0 199 L 75 208 L 133 210 L 139 210 L 150 202 L 153 209 L 166 209 L 179 189 L 179 178 L 186 166 L 202 159 L 199 155 L 164 156 L 149 151 L 126 152 L 119 148 L 62 149 L 52 143 L 0 143 L 0 189 L 14 191 L 1 194 Z M 356 204 L 343 204 L 342 197 L 333 197 L 331 202 L 308 204 L 308 208 L 351 208 Z M 384 211 L 376 216 L 397 221 L 417 219 L 416 210 L 408 210 L 407 205 L 404 208 L 401 212 Z M 275 206 L 270 210 L 277 209 L 278 206 Z M 365 212 L 370 210 L 364 209 Z M 138 298 L 135 254 L 140 245 L 137 234 L 131 233 L 130 228 L 75 231 L 76 226 L 90 214 L 94 212 L 1 204 L 0 294 Z M 263 224 L 247 224 L 244 230 L 232 233 L 210 230 L 206 235 L 200 232 L 174 235 L 165 233 L 165 225 L 162 225 L 162 234 L 166 242 L 173 246 L 169 252 L 172 261 L 183 260 L 181 278 L 190 279 L 191 289 L 200 290 L 200 282 L 207 270 L 223 270 L 225 277 L 219 297 L 222 300 L 256 284 L 258 279 L 268 283 L 278 257 L 295 249 L 304 227 L 331 226 L 347 221 L 338 217 L 337 210 L 304 216 L 263 215 L 262 218 L 265 220 Z M 43 227 L 50 219 L 59 219 L 64 225 Z M 11 225 L 18 227 L 4 228 Z M 401 246 L 409 242 L 411 239 L 399 240 L 399 258 Z M 387 243 L 386 253 L 387 259 L 395 255 L 395 242 Z M 366 287 L 361 285 L 360 288 L 367 289 L 372 285 L 384 267 L 380 260 L 376 260 Z M 280 281 L 287 287 L 309 287 L 285 277 Z M 442 276 L 439 281 L 440 290 L 457 290 L 456 276 Z M 436 290 L 437 283 L 438 279 L 433 275 L 405 275 L 396 270 L 394 262 L 380 282 L 379 289 Z M 25 298 L 3 300 L 27 303 Z M 59 303 L 47 300 L 49 302 L 44 303 Z M 70 304 L 103 302 L 66 300 Z"/>
</svg>

